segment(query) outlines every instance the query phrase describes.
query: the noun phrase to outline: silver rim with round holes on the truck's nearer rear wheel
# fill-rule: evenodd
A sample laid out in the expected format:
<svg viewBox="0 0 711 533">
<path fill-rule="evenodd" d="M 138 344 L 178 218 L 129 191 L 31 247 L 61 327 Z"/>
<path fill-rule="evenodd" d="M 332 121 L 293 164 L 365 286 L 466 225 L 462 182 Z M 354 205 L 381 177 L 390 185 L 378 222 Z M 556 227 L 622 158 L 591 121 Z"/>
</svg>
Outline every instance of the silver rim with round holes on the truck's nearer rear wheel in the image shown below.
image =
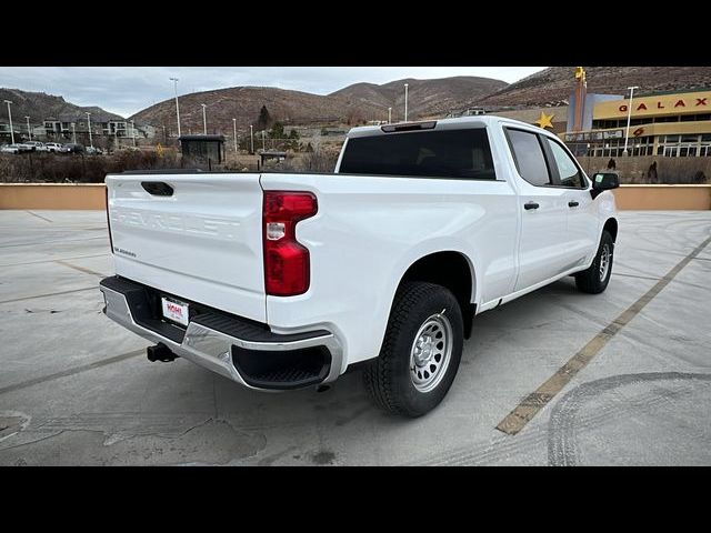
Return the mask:
<svg viewBox="0 0 711 533">
<path fill-rule="evenodd" d="M 440 313 L 427 319 L 410 349 L 410 379 L 420 392 L 430 392 L 447 373 L 452 354 L 452 324 Z"/>
</svg>

